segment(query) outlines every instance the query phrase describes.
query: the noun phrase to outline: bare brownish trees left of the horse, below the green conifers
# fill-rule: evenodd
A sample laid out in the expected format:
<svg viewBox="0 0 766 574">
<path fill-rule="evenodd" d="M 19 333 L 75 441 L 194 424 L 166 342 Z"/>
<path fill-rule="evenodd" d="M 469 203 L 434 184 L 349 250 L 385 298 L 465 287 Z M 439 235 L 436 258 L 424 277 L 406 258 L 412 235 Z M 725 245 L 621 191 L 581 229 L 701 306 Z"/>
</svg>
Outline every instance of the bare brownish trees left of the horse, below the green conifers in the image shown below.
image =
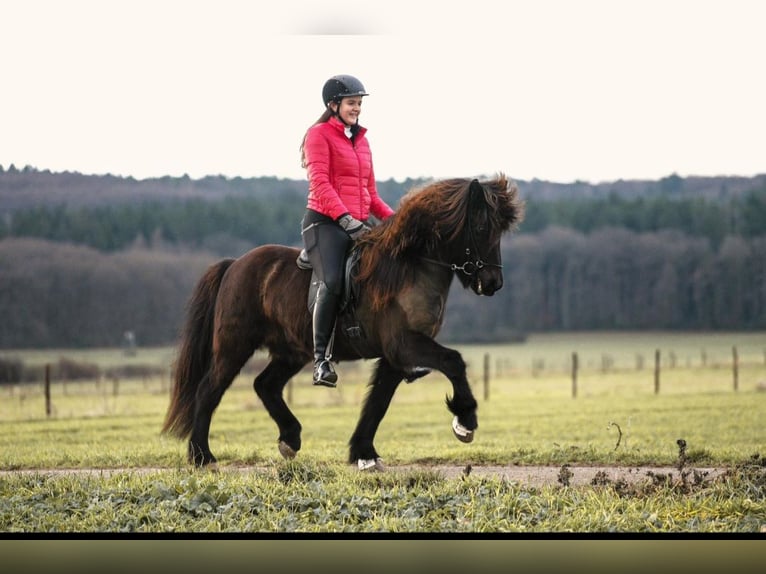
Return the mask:
<svg viewBox="0 0 766 574">
<path fill-rule="evenodd" d="M 36 239 L 0 241 L 0 348 L 174 341 L 210 254 L 130 249 L 105 254 Z"/>
</svg>

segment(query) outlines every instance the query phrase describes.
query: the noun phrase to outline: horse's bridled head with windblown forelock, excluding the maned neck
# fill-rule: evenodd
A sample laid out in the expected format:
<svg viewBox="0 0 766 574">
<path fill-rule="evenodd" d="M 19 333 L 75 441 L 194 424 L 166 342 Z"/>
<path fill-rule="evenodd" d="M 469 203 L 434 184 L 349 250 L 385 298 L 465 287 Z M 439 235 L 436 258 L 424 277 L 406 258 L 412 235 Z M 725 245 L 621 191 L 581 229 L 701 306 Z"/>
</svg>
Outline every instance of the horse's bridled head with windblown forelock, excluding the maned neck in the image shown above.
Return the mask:
<svg viewBox="0 0 766 574">
<path fill-rule="evenodd" d="M 459 211 L 449 234 L 450 265 L 463 287 L 492 296 L 503 286 L 500 240 L 523 216 L 518 189 L 503 175 L 465 184 Z"/>
</svg>

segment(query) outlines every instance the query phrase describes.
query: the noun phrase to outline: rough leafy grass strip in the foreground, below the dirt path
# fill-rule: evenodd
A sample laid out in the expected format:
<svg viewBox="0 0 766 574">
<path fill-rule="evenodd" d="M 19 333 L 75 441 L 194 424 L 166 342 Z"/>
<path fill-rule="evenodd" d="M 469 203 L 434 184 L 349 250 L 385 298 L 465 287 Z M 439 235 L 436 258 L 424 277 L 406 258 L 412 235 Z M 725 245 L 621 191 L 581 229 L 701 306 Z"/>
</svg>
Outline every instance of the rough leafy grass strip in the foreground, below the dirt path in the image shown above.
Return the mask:
<svg viewBox="0 0 766 574">
<path fill-rule="evenodd" d="M 530 488 L 444 480 L 427 471 L 362 474 L 279 462 L 272 472 L 193 470 L 0 477 L 0 531 L 155 533 L 759 532 L 762 468 L 712 486 Z"/>
</svg>

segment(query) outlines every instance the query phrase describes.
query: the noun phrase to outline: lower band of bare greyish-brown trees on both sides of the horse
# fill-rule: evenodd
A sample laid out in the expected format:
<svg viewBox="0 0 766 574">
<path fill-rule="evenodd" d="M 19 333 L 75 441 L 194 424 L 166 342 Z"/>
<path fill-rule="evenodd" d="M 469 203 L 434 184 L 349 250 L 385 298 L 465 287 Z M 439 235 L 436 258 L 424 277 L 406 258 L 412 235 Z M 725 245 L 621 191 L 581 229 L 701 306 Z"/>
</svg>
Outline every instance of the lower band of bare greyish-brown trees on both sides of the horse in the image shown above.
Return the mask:
<svg viewBox="0 0 766 574">
<path fill-rule="evenodd" d="M 548 227 L 503 241 L 492 298 L 453 286 L 444 341 L 534 331 L 766 329 L 766 236 L 719 247 L 678 231 L 591 234 Z M 131 248 L 103 253 L 38 239 L 0 241 L 0 347 L 176 341 L 193 286 L 218 256 Z"/>
</svg>

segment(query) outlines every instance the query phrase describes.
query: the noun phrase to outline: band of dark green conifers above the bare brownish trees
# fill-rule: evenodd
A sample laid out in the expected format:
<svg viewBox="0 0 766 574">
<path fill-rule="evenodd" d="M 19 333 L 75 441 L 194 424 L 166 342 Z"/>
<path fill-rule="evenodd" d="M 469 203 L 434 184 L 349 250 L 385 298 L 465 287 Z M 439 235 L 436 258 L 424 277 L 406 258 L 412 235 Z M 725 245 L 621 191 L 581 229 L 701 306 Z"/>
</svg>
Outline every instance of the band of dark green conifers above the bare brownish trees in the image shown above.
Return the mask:
<svg viewBox="0 0 766 574">
<path fill-rule="evenodd" d="M 582 233 L 607 227 L 636 233 L 672 229 L 716 246 L 727 236 L 766 233 L 766 187 L 727 200 L 609 195 L 552 201 L 527 197 L 526 202 L 522 233 L 550 226 Z M 58 204 L 7 215 L 0 222 L 0 238 L 36 237 L 100 251 L 165 244 L 238 255 L 253 245 L 298 245 L 304 210 L 305 192 L 296 189 L 279 195 L 229 195 L 217 201 L 193 198 L 75 209 Z"/>
</svg>

